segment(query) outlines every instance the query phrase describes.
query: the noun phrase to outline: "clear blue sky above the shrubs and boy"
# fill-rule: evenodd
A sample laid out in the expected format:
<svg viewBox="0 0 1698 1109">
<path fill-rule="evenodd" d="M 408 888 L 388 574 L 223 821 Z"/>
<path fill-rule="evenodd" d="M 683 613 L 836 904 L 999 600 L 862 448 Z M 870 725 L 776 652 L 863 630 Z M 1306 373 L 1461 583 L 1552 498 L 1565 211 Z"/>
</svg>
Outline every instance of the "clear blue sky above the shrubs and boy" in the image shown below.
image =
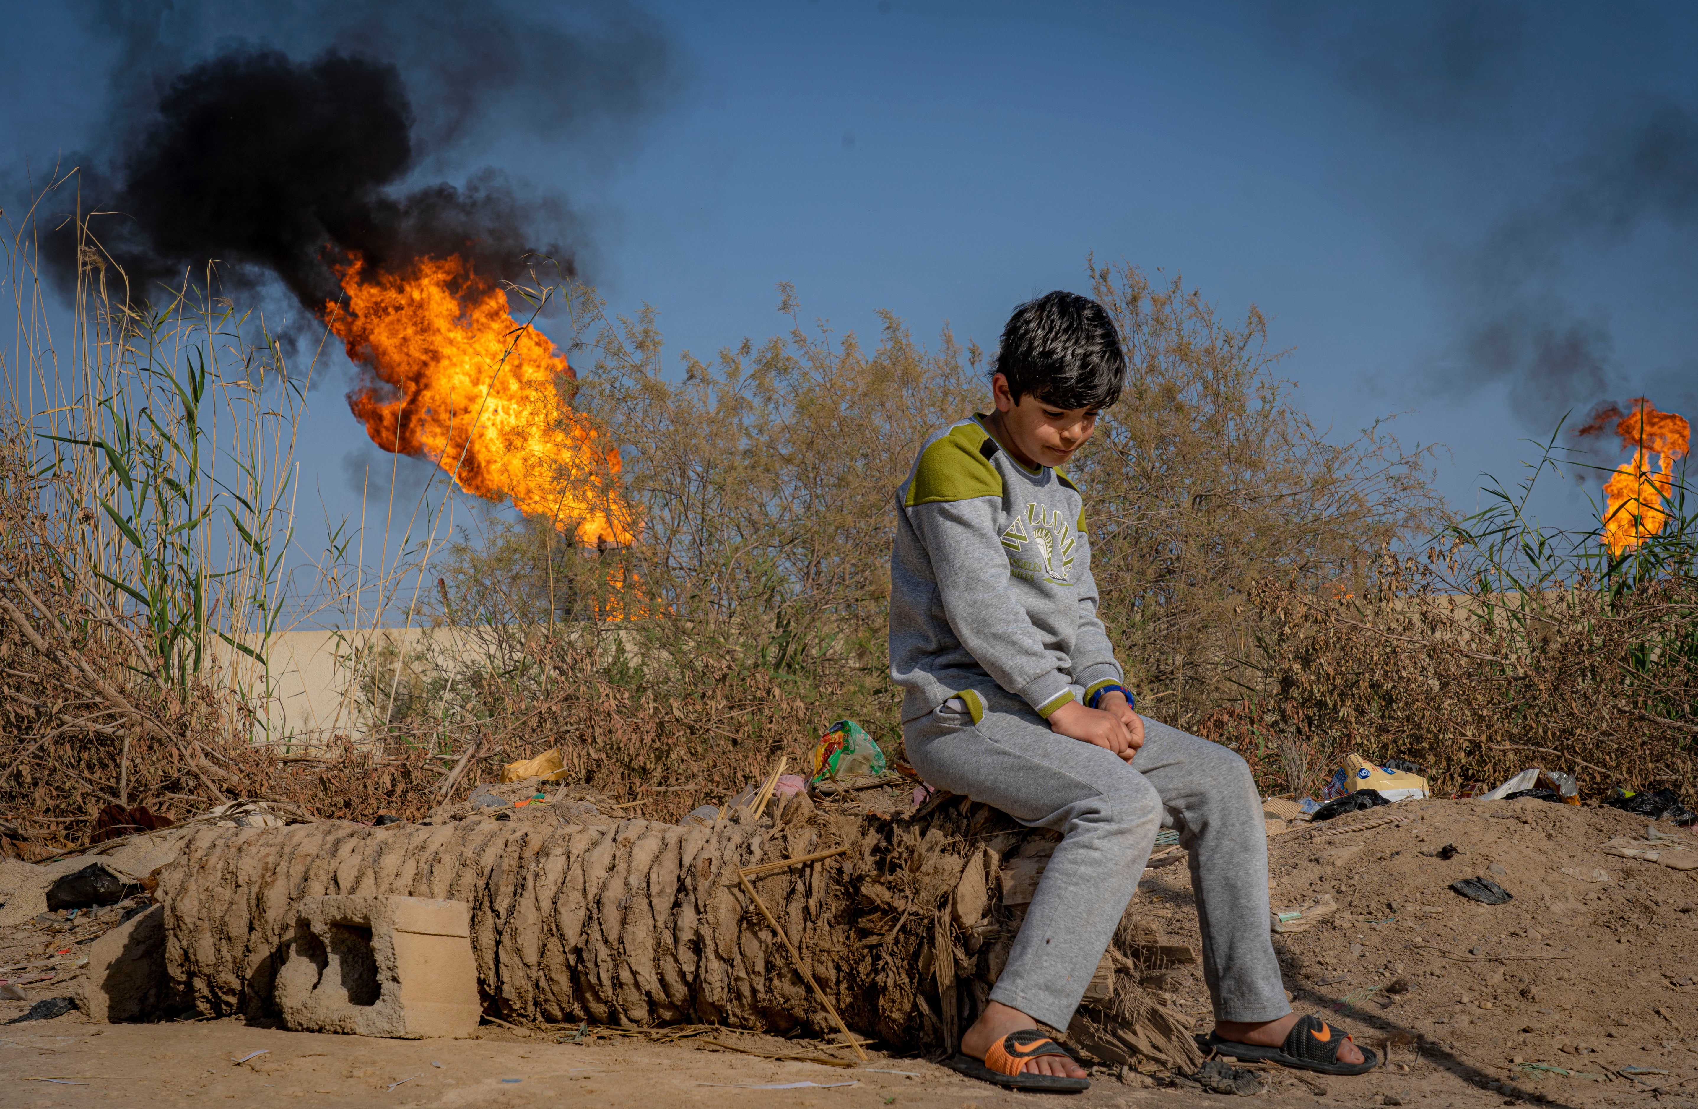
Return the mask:
<svg viewBox="0 0 1698 1109">
<path fill-rule="evenodd" d="M 618 8 L 523 10 L 569 27 Z M 25 158 L 98 156 L 102 76 L 126 56 L 98 5 L 0 12 L 0 163 L 15 178 Z M 586 275 L 616 309 L 654 304 L 674 357 L 779 329 L 783 280 L 837 329 L 891 309 L 993 346 L 1017 301 L 1082 287 L 1095 253 L 1184 273 L 1228 316 L 1260 306 L 1299 404 L 1338 436 L 1397 413 L 1406 443 L 1448 448 L 1438 482 L 1460 509 L 1482 472 L 1515 479 L 1520 440 L 1564 408 L 1649 392 L 1698 409 L 1691 5 L 795 0 L 621 19 L 664 42 L 645 105 L 550 129 L 513 92 L 414 180 L 494 165 L 565 197 Z M 306 5 L 180 25 L 160 49 L 182 58 L 326 41 Z M 423 99 L 453 95 L 409 65 Z M 377 457 L 345 382 L 314 391 L 302 452 L 331 515 Z M 1555 523 L 1583 508 L 1572 482 L 1540 499 Z"/>
</svg>

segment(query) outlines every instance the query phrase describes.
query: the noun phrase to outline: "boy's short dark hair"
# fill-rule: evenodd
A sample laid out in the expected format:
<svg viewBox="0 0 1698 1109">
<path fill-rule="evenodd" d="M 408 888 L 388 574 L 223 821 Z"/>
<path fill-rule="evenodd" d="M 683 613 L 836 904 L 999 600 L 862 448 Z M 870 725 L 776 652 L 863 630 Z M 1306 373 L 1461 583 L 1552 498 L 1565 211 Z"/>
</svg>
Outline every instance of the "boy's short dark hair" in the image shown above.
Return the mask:
<svg viewBox="0 0 1698 1109">
<path fill-rule="evenodd" d="M 1121 399 L 1126 355 L 1100 304 L 1058 289 L 1014 309 L 993 372 L 1015 401 L 1029 392 L 1056 408 L 1109 408 Z"/>
</svg>

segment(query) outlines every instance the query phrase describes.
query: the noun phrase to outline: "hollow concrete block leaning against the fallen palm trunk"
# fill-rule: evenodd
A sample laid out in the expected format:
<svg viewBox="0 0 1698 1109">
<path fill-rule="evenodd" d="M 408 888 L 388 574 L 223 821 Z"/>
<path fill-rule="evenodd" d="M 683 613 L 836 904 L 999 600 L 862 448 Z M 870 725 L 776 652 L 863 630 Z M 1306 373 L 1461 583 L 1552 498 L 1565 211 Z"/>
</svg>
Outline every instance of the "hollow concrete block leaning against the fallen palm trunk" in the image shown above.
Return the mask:
<svg viewBox="0 0 1698 1109">
<path fill-rule="evenodd" d="M 277 1007 L 299 1033 L 470 1036 L 482 1004 L 465 902 L 307 897 L 277 971 Z"/>
</svg>

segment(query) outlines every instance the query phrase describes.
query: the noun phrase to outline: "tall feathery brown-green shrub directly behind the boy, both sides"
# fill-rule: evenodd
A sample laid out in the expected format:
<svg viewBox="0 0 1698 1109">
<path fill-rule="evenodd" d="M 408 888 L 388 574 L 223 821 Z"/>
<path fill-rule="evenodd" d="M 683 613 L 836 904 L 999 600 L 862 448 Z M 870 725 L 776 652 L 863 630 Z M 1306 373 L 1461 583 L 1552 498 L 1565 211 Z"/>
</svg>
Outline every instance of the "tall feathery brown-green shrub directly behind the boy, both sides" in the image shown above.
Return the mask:
<svg viewBox="0 0 1698 1109">
<path fill-rule="evenodd" d="M 1195 727 L 1255 679 L 1258 577 L 1318 593 L 1360 577 L 1365 552 L 1433 526 L 1437 503 L 1425 455 L 1377 431 L 1333 447 L 1292 408 L 1260 314 L 1229 328 L 1133 267 L 1092 279 L 1133 363 L 1075 474 L 1102 611 L 1144 710 Z M 925 350 L 893 316 L 866 350 L 805 328 L 786 287 L 786 335 L 711 363 L 686 353 L 679 382 L 652 312 L 576 304 L 594 362 L 572 404 L 623 447 L 604 486 L 623 499 L 596 509 L 638 540 L 588 552 L 569 526 L 526 520 L 460 543 L 438 616 L 487 664 L 392 657 L 406 706 L 377 683 L 375 715 L 421 746 L 458 729 L 464 751 L 474 727 L 503 757 L 560 746 L 615 793 L 708 786 L 655 813 L 740 788 L 779 754 L 795 764 L 841 717 L 895 754 L 891 498 L 929 431 L 987 406 L 981 353 L 947 331 Z"/>
</svg>

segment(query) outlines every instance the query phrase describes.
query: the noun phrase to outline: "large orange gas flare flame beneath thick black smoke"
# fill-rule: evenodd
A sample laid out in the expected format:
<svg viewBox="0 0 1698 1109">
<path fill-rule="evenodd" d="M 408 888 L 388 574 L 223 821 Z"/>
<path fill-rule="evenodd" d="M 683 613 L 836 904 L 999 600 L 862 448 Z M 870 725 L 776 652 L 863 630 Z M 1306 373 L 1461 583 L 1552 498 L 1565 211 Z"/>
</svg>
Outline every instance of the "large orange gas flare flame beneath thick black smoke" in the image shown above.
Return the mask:
<svg viewBox="0 0 1698 1109">
<path fill-rule="evenodd" d="M 348 394 L 374 443 L 424 455 L 464 491 L 511 498 L 586 545 L 632 540 L 613 487 L 618 450 L 565 404 L 565 357 L 513 319 L 494 282 L 458 255 L 416 258 L 402 272 L 350 255 L 336 275 L 345 301 L 326 304 L 324 321 L 348 358 L 396 394 Z"/>
</svg>

